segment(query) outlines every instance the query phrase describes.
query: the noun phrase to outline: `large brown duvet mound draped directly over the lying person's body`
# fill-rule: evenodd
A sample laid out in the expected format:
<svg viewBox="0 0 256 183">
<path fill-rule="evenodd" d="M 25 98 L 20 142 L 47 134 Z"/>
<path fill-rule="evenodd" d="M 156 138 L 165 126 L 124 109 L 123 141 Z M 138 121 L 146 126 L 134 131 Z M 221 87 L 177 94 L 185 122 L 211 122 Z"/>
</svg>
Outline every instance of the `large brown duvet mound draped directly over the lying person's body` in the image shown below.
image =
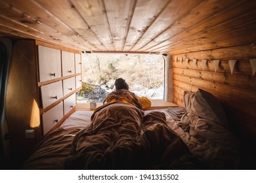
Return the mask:
<svg viewBox="0 0 256 183">
<path fill-rule="evenodd" d="M 136 141 L 144 113 L 123 102 L 95 110 L 91 125 L 80 131 L 66 160 L 66 169 L 127 169 L 140 146 Z"/>
</svg>

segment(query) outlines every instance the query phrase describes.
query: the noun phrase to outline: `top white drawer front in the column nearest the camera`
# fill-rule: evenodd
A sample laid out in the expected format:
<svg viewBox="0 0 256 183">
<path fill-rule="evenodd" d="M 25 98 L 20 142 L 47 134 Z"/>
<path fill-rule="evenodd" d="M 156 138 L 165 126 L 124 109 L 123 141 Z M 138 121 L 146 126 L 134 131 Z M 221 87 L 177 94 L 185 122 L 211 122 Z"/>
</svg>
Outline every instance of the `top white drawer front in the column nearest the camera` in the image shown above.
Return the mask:
<svg viewBox="0 0 256 183">
<path fill-rule="evenodd" d="M 39 81 L 61 77 L 60 50 L 38 46 Z"/>
</svg>

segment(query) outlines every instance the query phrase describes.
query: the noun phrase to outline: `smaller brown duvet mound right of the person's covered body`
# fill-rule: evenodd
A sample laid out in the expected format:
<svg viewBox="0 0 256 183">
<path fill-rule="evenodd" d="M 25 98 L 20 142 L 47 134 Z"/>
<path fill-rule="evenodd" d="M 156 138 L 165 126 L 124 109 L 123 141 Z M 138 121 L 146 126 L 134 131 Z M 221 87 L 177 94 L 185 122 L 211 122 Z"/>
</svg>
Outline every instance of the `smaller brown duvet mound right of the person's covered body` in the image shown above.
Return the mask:
<svg viewBox="0 0 256 183">
<path fill-rule="evenodd" d="M 148 147 L 144 163 L 151 169 L 174 169 L 175 163 L 181 161 L 181 158 L 190 159 L 188 147 L 167 126 L 165 114 L 162 112 L 150 112 L 144 117 L 140 142 Z M 178 169 L 190 168 L 192 167 L 179 167 Z"/>
</svg>

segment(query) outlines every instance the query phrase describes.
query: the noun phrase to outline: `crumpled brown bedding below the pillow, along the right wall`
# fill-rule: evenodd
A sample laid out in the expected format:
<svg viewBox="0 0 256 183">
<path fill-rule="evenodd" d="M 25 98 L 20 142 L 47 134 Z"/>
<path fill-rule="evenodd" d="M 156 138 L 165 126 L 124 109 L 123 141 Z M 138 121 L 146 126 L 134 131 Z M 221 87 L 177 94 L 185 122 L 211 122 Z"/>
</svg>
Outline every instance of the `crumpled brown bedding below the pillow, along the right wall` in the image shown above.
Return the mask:
<svg viewBox="0 0 256 183">
<path fill-rule="evenodd" d="M 190 130 L 180 137 L 205 169 L 255 169 L 253 159 L 224 125 L 190 111 L 182 116 L 181 124 L 189 125 Z"/>
</svg>

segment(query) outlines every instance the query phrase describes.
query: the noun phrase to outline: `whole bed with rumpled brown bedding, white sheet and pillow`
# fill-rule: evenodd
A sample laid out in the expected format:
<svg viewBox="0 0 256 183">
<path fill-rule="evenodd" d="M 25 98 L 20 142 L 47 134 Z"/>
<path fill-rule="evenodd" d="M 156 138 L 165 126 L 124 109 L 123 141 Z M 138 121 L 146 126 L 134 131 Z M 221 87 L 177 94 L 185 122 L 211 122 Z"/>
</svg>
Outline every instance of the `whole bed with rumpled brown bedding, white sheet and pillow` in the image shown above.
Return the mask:
<svg viewBox="0 0 256 183">
<path fill-rule="evenodd" d="M 255 169 L 211 93 L 185 92 L 184 105 L 140 110 L 116 101 L 75 111 L 22 169 Z"/>
</svg>

